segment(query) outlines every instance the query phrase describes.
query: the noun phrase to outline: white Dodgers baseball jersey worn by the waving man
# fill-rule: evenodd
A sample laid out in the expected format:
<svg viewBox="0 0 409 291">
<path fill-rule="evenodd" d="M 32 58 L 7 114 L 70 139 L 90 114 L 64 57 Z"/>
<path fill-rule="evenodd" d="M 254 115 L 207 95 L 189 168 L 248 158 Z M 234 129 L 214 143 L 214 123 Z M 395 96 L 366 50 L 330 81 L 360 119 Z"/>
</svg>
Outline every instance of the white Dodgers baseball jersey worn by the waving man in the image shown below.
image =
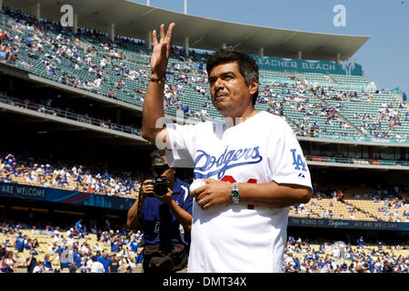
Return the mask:
<svg viewBox="0 0 409 291">
<path fill-rule="evenodd" d="M 298 141 L 285 121 L 260 112 L 241 124 L 166 124 L 168 164 L 194 167 L 195 179 L 311 186 Z M 282 272 L 288 207 L 194 203 L 188 272 Z"/>
</svg>

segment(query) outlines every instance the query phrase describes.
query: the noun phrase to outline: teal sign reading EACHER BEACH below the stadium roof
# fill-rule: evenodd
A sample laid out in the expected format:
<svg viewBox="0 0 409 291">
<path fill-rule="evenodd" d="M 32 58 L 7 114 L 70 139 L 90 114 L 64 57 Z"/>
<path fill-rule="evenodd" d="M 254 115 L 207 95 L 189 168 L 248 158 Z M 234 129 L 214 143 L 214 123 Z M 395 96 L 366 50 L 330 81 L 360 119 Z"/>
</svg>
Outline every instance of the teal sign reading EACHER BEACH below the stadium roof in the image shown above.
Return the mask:
<svg viewBox="0 0 409 291">
<path fill-rule="evenodd" d="M 266 70 L 297 72 L 297 73 L 315 73 L 331 75 L 363 75 L 362 65 L 351 62 L 343 62 L 337 65 L 327 61 L 306 61 L 298 58 L 286 59 L 275 56 L 259 57 L 252 55 L 258 66 Z"/>
</svg>

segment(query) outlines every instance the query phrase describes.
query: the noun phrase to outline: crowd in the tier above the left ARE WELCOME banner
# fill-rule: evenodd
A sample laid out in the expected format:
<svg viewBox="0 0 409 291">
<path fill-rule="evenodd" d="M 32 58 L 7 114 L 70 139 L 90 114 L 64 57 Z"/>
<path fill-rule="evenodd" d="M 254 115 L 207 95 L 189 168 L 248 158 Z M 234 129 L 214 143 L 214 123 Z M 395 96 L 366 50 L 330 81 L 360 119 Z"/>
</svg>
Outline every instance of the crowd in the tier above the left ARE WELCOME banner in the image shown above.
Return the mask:
<svg viewBox="0 0 409 291">
<path fill-rule="evenodd" d="M 0 177 L 4 183 L 15 182 L 99 195 L 135 197 L 145 176 L 146 173 L 139 171 L 108 172 L 103 168 L 87 168 L 67 161 L 52 163 L 7 153 L 0 156 Z"/>
</svg>

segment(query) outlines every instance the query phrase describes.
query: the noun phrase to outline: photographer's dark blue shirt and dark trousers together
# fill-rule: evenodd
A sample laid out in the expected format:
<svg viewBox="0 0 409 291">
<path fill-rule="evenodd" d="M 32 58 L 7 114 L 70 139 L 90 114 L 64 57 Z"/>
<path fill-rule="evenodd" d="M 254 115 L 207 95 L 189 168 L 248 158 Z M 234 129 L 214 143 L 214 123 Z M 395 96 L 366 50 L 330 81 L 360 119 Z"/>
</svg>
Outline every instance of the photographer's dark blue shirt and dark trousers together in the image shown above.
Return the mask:
<svg viewBox="0 0 409 291">
<path fill-rule="evenodd" d="M 192 214 L 189 185 L 175 179 L 173 199 L 186 212 Z M 145 234 L 144 271 L 175 272 L 185 267 L 190 245 L 190 232 L 181 237 L 180 223 L 165 202 L 155 196 L 145 198 L 140 221 Z"/>
</svg>

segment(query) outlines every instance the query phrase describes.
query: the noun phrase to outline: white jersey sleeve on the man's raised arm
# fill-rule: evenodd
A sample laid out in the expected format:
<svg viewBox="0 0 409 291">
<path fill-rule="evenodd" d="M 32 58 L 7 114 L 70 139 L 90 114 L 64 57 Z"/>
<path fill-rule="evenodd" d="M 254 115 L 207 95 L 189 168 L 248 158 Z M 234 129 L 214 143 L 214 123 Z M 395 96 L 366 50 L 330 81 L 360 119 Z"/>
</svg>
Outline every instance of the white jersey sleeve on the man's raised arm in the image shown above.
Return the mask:
<svg viewBox="0 0 409 291">
<path fill-rule="evenodd" d="M 195 135 L 197 125 L 166 124 L 171 149 L 166 149 L 167 163 L 171 167 L 194 167 Z"/>
</svg>

